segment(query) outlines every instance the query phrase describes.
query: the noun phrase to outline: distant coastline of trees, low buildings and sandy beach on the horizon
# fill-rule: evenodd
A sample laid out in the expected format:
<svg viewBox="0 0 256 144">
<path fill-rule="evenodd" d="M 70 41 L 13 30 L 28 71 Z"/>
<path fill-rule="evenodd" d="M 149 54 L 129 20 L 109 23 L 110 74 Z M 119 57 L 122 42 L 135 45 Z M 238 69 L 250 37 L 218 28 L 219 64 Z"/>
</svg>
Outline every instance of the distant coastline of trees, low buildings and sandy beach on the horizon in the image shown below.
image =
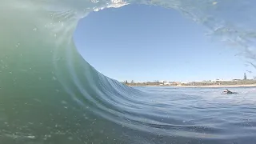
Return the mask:
<svg viewBox="0 0 256 144">
<path fill-rule="evenodd" d="M 154 82 L 134 82 L 134 80 L 128 82 L 127 80 L 122 82 L 127 86 L 256 86 L 256 77 L 253 79 L 247 79 L 246 73 L 242 79 L 232 79 L 232 80 L 205 80 L 201 82 L 168 82 L 165 80 Z"/>
</svg>

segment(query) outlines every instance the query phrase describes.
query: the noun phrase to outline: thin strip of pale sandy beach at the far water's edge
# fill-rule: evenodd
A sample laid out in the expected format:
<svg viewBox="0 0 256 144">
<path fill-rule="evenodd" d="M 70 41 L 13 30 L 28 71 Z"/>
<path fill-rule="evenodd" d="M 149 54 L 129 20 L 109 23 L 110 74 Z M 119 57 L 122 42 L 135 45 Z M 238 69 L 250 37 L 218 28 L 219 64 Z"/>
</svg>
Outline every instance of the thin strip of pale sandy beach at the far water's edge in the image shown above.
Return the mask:
<svg viewBox="0 0 256 144">
<path fill-rule="evenodd" d="M 133 86 L 131 86 L 131 87 L 133 87 Z M 145 86 L 145 87 L 150 87 L 150 86 Z M 167 86 L 167 87 L 204 87 L 204 88 L 214 88 L 214 87 L 256 87 L 256 84 L 250 84 L 250 85 L 209 85 L 209 86 Z"/>
</svg>

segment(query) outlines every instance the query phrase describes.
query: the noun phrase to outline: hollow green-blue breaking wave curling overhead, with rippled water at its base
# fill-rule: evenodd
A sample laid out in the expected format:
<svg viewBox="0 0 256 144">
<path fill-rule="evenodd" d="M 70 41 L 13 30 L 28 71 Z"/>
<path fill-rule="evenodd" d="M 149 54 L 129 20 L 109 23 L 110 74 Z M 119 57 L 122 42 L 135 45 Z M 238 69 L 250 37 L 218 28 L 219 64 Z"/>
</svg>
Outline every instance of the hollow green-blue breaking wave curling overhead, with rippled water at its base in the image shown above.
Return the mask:
<svg viewBox="0 0 256 144">
<path fill-rule="evenodd" d="M 206 119 L 201 119 L 202 123 L 187 122 L 186 113 L 194 107 L 178 101 L 184 98 L 196 102 L 193 92 L 174 92 L 167 101 L 170 103 L 160 102 L 166 94 L 158 90 L 136 90 L 106 78 L 78 54 L 72 37 L 79 19 L 92 11 L 128 4 L 178 10 L 206 26 L 210 36 L 241 49 L 254 66 L 256 5 L 253 0 L 2 0 L 0 142 L 256 142 L 255 114 L 250 115 L 252 122 L 247 119 L 248 126 L 242 128 L 239 128 L 239 124 L 244 124 L 239 122 L 241 119 L 230 122 L 232 117 L 218 119 L 212 126 L 207 125 Z M 180 96 L 178 101 L 177 96 Z M 248 108 L 250 112 L 255 110 L 253 98 L 243 100 L 252 106 Z M 206 106 L 210 101 L 200 98 L 198 101 L 198 105 L 204 105 L 194 110 L 216 109 Z M 235 113 L 230 106 L 226 111 Z M 242 114 L 248 112 L 242 110 Z M 218 110 L 214 114 L 218 117 Z M 197 114 L 191 117 L 197 118 Z M 237 129 L 226 130 L 225 122 Z"/>
</svg>

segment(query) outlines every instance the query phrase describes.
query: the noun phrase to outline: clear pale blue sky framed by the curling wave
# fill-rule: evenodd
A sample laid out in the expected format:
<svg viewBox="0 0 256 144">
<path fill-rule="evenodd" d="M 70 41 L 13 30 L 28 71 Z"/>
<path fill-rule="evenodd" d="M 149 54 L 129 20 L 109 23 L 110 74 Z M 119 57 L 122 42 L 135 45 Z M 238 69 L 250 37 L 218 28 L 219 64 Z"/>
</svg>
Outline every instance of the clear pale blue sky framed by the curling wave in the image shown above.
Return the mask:
<svg viewBox="0 0 256 144">
<path fill-rule="evenodd" d="M 96 70 L 119 81 L 243 78 L 250 67 L 234 56 L 238 51 L 206 32 L 178 11 L 134 5 L 91 13 L 74 41 Z"/>
</svg>

